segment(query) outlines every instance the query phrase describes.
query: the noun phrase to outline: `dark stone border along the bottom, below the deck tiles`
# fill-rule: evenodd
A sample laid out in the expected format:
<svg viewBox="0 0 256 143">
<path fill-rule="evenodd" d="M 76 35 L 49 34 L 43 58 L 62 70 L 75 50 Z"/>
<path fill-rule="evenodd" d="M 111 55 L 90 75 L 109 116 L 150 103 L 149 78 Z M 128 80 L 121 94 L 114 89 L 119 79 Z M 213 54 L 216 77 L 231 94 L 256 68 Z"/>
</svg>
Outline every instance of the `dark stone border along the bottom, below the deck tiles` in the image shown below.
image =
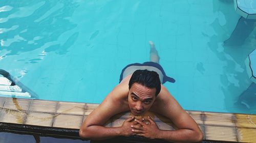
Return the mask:
<svg viewBox="0 0 256 143">
<path fill-rule="evenodd" d="M 30 126 L 30 125 L 20 125 L 20 124 L 10 124 L 10 123 L 1 123 L 0 122 L 0 132 L 10 132 L 15 134 L 27 134 L 33 136 L 49 136 L 54 138 L 69 138 L 69 139 L 80 139 L 79 130 L 73 129 L 62 129 L 62 128 L 49 128 L 49 127 L 39 127 L 39 126 Z M 92 143 L 112 143 L 112 142 L 123 142 L 123 143 L 167 143 L 164 140 L 153 140 L 147 139 L 144 137 L 133 136 L 133 137 L 117 137 L 107 140 L 95 141 L 91 140 Z M 224 143 L 223 141 L 209 141 L 204 140 L 203 143 Z"/>
</svg>

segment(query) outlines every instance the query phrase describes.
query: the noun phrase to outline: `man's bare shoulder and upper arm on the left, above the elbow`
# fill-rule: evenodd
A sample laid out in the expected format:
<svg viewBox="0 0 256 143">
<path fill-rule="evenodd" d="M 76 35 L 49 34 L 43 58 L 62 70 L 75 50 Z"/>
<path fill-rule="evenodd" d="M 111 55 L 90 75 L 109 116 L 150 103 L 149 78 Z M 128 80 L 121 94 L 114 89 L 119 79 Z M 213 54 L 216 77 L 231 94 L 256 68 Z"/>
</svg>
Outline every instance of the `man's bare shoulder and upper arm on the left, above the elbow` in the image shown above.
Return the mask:
<svg viewBox="0 0 256 143">
<path fill-rule="evenodd" d="M 127 95 L 129 92 L 128 83 L 122 81 L 105 97 L 100 105 L 90 113 L 83 122 L 82 127 L 91 125 L 103 125 L 112 116 L 129 110 Z"/>
</svg>

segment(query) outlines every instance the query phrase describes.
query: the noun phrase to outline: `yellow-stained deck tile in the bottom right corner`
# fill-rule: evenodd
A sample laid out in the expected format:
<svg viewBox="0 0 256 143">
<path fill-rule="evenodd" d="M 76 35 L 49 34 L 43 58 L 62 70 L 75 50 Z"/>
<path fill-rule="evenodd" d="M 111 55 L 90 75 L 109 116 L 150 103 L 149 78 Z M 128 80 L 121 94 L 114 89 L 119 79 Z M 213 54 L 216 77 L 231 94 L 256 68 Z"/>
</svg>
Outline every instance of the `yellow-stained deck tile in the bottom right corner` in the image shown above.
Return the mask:
<svg viewBox="0 0 256 143">
<path fill-rule="evenodd" d="M 239 142 L 256 142 L 255 128 L 241 128 L 238 127 L 238 141 Z"/>
</svg>

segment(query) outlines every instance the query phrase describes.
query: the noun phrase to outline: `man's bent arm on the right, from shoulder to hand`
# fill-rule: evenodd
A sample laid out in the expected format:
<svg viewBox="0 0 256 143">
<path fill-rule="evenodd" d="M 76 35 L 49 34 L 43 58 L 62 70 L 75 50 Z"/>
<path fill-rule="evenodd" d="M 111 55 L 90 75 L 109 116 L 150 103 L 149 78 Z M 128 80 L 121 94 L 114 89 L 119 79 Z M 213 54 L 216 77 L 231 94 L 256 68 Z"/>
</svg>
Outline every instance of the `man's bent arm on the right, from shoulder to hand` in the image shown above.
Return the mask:
<svg viewBox="0 0 256 143">
<path fill-rule="evenodd" d="M 163 86 L 152 107 L 152 111 L 169 118 L 178 129 L 174 131 L 160 130 L 155 122 L 148 118 L 150 124 L 137 121 L 143 127 L 133 127 L 133 131 L 137 135 L 171 142 L 200 142 L 203 139 L 203 134 L 197 123 L 182 109 Z"/>
</svg>

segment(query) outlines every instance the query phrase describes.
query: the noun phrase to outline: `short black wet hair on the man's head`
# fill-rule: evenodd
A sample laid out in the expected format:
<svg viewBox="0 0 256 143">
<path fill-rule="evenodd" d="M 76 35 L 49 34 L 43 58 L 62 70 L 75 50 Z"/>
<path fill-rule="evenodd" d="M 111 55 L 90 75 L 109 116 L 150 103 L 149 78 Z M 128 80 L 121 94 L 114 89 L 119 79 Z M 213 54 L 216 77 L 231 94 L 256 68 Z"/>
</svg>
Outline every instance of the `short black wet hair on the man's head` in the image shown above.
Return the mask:
<svg viewBox="0 0 256 143">
<path fill-rule="evenodd" d="M 161 81 L 155 71 L 136 70 L 129 81 L 129 90 L 135 82 L 150 89 L 156 88 L 156 96 L 160 93 Z"/>
</svg>

